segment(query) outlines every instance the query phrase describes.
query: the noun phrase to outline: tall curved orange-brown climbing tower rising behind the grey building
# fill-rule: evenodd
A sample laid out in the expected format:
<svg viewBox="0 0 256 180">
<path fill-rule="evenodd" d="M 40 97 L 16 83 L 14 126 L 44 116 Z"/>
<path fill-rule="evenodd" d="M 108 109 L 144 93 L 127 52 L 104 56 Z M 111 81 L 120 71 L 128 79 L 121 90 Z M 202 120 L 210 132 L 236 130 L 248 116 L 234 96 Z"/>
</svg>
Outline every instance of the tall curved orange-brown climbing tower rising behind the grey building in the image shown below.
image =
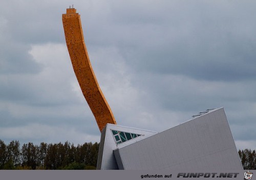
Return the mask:
<svg viewBox="0 0 256 180">
<path fill-rule="evenodd" d="M 101 132 L 107 123 L 116 124 L 116 121 L 93 72 L 83 39 L 80 15 L 76 9 L 69 8 L 67 14 L 62 14 L 62 22 L 77 81 Z"/>
</svg>

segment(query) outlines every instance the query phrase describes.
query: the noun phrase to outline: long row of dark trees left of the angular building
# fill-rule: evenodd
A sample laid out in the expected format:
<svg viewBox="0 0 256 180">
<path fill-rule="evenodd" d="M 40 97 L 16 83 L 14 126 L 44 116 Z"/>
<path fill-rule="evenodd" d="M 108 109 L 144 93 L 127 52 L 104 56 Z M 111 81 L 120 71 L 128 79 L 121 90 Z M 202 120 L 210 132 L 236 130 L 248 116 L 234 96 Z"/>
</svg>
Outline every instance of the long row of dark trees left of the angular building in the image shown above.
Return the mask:
<svg viewBox="0 0 256 180">
<path fill-rule="evenodd" d="M 20 147 L 0 140 L 0 169 L 96 169 L 99 143 L 62 144 L 29 142 Z"/>
</svg>

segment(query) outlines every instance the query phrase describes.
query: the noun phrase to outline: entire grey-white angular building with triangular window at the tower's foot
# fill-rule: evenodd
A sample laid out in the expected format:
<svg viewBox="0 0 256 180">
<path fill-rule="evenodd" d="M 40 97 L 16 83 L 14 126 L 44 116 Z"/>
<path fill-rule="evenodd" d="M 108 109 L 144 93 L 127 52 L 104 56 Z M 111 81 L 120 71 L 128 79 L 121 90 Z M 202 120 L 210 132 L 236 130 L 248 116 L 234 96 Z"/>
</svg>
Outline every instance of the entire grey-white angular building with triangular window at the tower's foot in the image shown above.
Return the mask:
<svg viewBox="0 0 256 180">
<path fill-rule="evenodd" d="M 243 169 L 223 108 L 163 132 L 107 124 L 97 169 Z"/>
</svg>

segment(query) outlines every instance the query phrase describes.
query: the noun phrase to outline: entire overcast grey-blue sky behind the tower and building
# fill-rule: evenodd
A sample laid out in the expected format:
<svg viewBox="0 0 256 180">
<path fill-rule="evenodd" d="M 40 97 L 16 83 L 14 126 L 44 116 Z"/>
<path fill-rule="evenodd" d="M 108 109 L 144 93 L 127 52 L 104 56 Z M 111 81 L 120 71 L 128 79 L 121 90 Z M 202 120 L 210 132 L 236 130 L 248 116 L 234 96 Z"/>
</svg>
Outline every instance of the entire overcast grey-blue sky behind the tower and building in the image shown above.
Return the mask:
<svg viewBox="0 0 256 180">
<path fill-rule="evenodd" d="M 2 1 L 0 139 L 99 142 L 61 15 L 74 4 L 117 124 L 161 132 L 224 107 L 256 149 L 255 1 Z"/>
</svg>

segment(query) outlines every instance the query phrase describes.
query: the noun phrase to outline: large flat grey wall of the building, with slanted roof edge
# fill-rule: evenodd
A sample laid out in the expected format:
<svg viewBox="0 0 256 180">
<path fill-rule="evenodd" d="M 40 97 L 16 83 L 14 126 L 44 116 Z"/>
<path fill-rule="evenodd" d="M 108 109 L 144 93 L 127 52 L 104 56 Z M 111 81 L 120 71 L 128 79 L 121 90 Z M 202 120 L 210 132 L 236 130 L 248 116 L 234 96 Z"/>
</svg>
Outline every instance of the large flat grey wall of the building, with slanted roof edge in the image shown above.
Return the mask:
<svg viewBox="0 0 256 180">
<path fill-rule="evenodd" d="M 114 150 L 119 169 L 243 169 L 223 108 Z"/>
</svg>

